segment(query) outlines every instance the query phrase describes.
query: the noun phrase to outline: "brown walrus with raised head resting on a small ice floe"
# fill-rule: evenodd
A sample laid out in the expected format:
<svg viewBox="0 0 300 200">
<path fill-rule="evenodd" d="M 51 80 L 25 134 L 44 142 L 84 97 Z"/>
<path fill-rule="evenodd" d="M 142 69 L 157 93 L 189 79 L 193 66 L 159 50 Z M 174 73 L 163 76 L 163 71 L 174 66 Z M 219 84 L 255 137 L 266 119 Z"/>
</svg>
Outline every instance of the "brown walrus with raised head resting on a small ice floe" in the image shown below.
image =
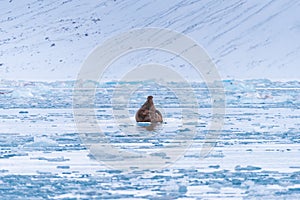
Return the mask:
<svg viewBox="0 0 300 200">
<path fill-rule="evenodd" d="M 135 120 L 137 122 L 162 122 L 162 114 L 156 110 L 153 103 L 153 96 L 148 96 L 147 101 L 136 112 Z"/>
</svg>

